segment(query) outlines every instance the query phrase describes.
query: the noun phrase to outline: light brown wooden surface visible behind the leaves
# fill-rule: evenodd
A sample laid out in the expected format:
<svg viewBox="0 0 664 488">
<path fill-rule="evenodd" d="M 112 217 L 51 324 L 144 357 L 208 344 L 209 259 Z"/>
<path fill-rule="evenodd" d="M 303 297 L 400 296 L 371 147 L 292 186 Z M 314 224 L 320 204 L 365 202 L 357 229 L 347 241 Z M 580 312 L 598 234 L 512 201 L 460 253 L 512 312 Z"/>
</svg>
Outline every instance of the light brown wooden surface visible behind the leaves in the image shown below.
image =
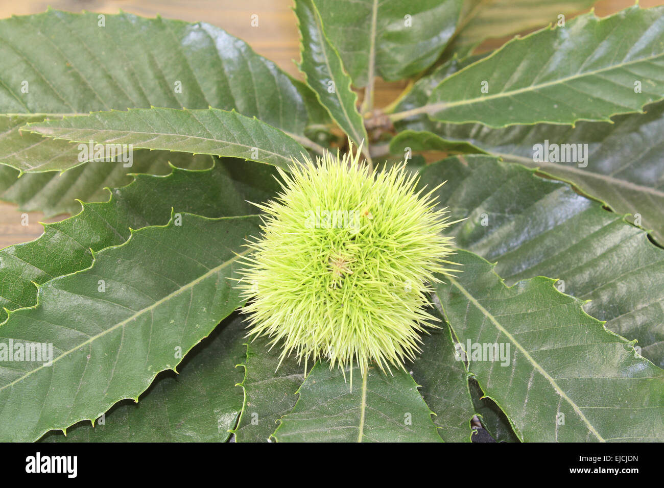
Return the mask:
<svg viewBox="0 0 664 488">
<path fill-rule="evenodd" d="M 600 17 L 633 5 L 633 0 L 600 0 L 595 11 Z M 641 0 L 642 7 L 664 5 L 664 0 Z M 262 56 L 276 62 L 283 70 L 301 79 L 295 66 L 299 60 L 299 35 L 295 15 L 291 11 L 293 0 L 27 0 L 23 2 L 0 1 L 0 18 L 11 15 L 40 13 L 46 7 L 65 11 L 81 10 L 100 13 L 125 12 L 154 17 L 182 19 L 184 21 L 205 21 L 222 27 L 230 34 L 244 39 Z M 258 15 L 258 27 L 251 27 L 252 15 Z M 483 49 L 495 48 L 506 39 L 495 39 L 483 44 Z M 386 106 L 401 92 L 405 82 L 386 83 L 378 80 L 375 89 L 377 107 Z M 66 215 L 47 220 L 53 222 Z M 43 215 L 30 212 L 28 225 L 22 212 L 15 205 L 0 203 L 0 248 L 26 242 L 39 237 Z"/>
</svg>

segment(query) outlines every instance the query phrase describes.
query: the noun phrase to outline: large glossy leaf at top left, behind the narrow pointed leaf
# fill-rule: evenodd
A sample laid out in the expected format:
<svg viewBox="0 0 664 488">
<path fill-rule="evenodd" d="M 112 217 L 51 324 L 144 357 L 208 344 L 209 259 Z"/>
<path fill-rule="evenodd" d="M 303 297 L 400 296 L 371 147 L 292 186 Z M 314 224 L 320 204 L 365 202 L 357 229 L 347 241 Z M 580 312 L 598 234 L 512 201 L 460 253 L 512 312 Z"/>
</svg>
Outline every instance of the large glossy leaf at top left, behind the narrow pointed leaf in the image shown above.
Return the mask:
<svg viewBox="0 0 664 488">
<path fill-rule="evenodd" d="M 100 23 L 96 13 L 53 10 L 0 20 L 0 114 L 212 106 L 304 133 L 307 89 L 223 29 L 129 13 L 106 14 Z M 4 153 L 0 163 L 23 171 L 80 164 L 62 141 L 29 134 L 16 141 L 23 142 L 19 153 Z"/>
</svg>

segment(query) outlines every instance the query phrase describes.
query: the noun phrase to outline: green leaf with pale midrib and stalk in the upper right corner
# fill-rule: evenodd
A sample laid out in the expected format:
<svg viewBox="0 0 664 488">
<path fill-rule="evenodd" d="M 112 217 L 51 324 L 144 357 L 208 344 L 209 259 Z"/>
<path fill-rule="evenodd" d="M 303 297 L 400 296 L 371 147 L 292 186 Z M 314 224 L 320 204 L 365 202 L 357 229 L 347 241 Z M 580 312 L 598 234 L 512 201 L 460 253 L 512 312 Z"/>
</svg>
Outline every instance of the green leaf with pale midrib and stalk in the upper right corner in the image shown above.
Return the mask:
<svg viewBox="0 0 664 488">
<path fill-rule="evenodd" d="M 664 98 L 663 12 L 635 6 L 604 19 L 591 13 L 510 41 L 446 78 L 416 114 L 504 127 L 639 112 Z"/>
</svg>

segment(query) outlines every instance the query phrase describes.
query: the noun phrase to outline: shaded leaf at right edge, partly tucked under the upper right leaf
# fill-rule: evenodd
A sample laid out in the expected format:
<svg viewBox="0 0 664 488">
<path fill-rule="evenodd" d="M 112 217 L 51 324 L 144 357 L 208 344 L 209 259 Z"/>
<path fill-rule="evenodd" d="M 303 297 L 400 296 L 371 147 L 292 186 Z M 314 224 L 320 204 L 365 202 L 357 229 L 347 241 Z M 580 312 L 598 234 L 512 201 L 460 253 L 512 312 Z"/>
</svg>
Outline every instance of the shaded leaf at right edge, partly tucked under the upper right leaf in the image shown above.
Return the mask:
<svg viewBox="0 0 664 488">
<path fill-rule="evenodd" d="M 435 130 L 444 135 L 450 145 L 481 148 L 475 152 L 489 151 L 507 161 L 537 167 L 553 177 L 570 181 L 616 212 L 632 214 L 631 222 L 638 218 L 637 224 L 651 230 L 659 242 L 664 242 L 664 163 L 661 160 L 664 103 L 653 104 L 646 110 L 645 115 L 616 116 L 613 123 L 580 122 L 576 127 L 538 124 L 490 129 L 483 125 L 441 124 Z M 426 147 L 413 145 L 430 149 L 432 139 L 436 140 L 430 133 L 404 131 L 402 134 L 405 140 L 398 141 L 397 147 L 426 138 L 423 144 Z M 543 147 L 544 141 L 548 141 L 550 147 L 564 144 L 581 147 L 585 161 L 534 161 L 535 146 Z"/>
</svg>

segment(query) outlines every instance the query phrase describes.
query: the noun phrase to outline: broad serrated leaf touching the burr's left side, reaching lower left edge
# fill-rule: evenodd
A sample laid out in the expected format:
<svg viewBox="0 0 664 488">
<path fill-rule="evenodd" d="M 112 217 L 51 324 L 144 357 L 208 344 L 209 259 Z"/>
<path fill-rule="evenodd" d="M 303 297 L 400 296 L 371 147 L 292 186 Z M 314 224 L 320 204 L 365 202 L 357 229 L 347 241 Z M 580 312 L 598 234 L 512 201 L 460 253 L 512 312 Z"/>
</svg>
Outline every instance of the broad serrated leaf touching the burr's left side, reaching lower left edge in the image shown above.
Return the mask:
<svg viewBox="0 0 664 488">
<path fill-rule="evenodd" d="M 182 214 L 96 253 L 88 270 L 41 285 L 35 307 L 9 313 L 0 343 L 46 344 L 52 357 L 0 363 L 0 440 L 37 440 L 94 420 L 175 370 L 242 305 L 233 280 L 259 224 L 258 216 Z"/>
</svg>

